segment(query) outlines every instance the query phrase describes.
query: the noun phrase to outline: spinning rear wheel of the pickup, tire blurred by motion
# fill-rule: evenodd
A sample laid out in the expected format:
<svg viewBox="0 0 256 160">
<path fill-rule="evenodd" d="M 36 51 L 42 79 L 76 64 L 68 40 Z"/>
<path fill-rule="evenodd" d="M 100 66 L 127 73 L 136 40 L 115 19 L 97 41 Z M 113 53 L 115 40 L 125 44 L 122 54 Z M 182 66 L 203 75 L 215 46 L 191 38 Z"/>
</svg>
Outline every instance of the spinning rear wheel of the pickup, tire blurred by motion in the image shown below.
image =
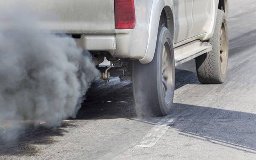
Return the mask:
<svg viewBox="0 0 256 160">
<path fill-rule="evenodd" d="M 152 62 L 141 64 L 133 61 L 132 82 L 134 100 L 140 114 L 165 116 L 170 112 L 174 96 L 175 63 L 171 34 L 166 27 L 159 26 Z"/>
</svg>

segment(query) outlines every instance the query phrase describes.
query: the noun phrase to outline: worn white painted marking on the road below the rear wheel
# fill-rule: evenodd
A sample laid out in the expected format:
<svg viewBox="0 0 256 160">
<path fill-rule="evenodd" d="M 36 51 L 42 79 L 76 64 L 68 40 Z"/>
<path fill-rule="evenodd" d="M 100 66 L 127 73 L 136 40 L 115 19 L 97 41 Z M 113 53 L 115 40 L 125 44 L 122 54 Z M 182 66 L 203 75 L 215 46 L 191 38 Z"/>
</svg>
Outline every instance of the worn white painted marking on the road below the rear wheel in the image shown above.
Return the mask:
<svg viewBox="0 0 256 160">
<path fill-rule="evenodd" d="M 136 148 L 148 148 L 152 147 L 158 142 L 158 140 L 164 135 L 164 133 L 169 129 L 169 125 L 174 122 L 174 119 L 168 120 L 166 122 L 166 119 L 161 120 L 158 122 L 156 126 L 154 126 L 148 134 L 146 134 L 142 140 L 139 142 L 138 145 L 136 145 Z M 163 122 L 165 122 L 163 124 Z"/>
</svg>

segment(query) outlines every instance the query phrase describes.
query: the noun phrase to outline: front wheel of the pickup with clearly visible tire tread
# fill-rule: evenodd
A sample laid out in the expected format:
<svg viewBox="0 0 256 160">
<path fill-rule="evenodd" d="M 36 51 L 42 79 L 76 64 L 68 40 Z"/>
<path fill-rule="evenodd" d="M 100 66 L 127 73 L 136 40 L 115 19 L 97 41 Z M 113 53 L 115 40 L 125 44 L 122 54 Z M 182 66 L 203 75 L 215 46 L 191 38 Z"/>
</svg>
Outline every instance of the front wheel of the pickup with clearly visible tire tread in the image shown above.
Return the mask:
<svg viewBox="0 0 256 160">
<path fill-rule="evenodd" d="M 196 58 L 198 80 L 202 84 L 221 84 L 226 80 L 228 66 L 228 27 L 222 10 L 217 12 L 214 35 L 209 43 L 212 51 Z"/>
</svg>

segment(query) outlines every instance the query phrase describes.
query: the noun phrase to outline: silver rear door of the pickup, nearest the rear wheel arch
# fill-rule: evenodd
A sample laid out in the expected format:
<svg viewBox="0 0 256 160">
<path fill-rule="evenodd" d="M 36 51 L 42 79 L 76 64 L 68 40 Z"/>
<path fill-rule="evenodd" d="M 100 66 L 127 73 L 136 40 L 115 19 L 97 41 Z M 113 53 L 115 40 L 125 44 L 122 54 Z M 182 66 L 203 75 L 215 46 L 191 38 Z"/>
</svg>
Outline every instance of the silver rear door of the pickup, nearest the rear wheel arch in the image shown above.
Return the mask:
<svg viewBox="0 0 256 160">
<path fill-rule="evenodd" d="M 174 0 L 176 35 L 174 43 L 186 40 L 192 28 L 192 3 L 193 0 Z"/>
</svg>

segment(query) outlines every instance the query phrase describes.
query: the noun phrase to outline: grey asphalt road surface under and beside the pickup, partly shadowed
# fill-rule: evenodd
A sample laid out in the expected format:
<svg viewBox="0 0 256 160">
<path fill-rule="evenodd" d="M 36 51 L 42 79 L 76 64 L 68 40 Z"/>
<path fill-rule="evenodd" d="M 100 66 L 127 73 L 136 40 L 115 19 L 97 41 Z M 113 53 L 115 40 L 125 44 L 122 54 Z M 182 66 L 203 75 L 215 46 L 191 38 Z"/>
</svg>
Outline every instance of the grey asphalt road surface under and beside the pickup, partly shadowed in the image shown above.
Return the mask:
<svg viewBox="0 0 256 160">
<path fill-rule="evenodd" d="M 174 107 L 139 119 L 131 82 L 96 81 L 76 119 L 0 142 L 11 160 L 255 160 L 256 2 L 230 0 L 227 82 L 202 85 L 194 61 L 176 69 Z"/>
</svg>

